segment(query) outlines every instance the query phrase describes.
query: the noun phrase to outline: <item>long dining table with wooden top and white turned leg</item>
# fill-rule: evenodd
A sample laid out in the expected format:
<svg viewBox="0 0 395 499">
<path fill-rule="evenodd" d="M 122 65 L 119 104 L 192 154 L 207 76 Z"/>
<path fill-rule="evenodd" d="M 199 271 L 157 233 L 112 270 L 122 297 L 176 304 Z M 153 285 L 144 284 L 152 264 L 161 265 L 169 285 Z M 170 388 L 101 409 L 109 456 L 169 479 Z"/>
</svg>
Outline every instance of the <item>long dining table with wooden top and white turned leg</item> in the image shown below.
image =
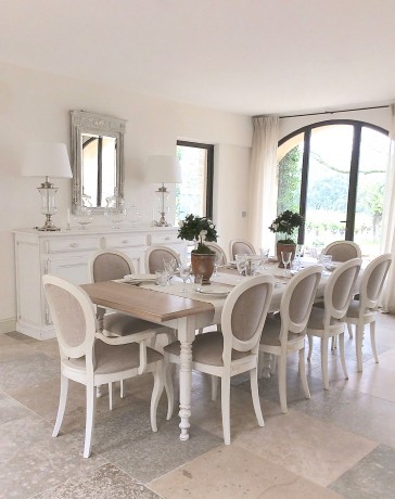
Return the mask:
<svg viewBox="0 0 395 499">
<path fill-rule="evenodd" d="M 212 285 L 220 285 L 224 286 L 224 290 L 230 290 L 241 279 L 249 279 L 238 276 L 230 268 L 221 270 L 218 276 L 212 278 Z M 269 311 L 277 311 L 280 308 L 283 290 L 291 278 L 284 277 L 283 270 L 279 269 L 277 264 L 269 264 L 264 272 L 275 277 L 276 284 Z M 323 294 L 326 281 L 327 279 L 322 280 L 318 295 Z M 181 345 L 179 374 L 180 439 L 188 440 L 191 418 L 193 341 L 199 329 L 219 323 L 226 294 L 213 297 L 206 295 L 204 290 L 197 292 L 193 284 L 188 284 L 189 292 L 183 293 L 180 282 L 175 282 L 168 286 L 157 286 L 149 282 L 130 285 L 129 282 L 120 280 L 81 284 L 81 287 L 90 296 L 92 303 L 97 305 L 167 325 L 177 331 L 177 337 Z"/>
</svg>

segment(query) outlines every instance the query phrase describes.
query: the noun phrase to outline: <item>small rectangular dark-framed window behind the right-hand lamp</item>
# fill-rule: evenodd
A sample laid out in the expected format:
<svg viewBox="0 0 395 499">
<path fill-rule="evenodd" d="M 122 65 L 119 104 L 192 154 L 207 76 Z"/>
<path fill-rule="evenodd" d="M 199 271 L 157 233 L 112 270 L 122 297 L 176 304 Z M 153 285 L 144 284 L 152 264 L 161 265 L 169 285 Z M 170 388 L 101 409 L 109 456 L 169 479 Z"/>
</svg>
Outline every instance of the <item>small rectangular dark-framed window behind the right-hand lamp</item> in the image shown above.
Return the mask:
<svg viewBox="0 0 395 499">
<path fill-rule="evenodd" d="M 188 214 L 213 217 L 214 145 L 177 141 L 182 183 L 176 187 L 176 223 Z"/>
</svg>

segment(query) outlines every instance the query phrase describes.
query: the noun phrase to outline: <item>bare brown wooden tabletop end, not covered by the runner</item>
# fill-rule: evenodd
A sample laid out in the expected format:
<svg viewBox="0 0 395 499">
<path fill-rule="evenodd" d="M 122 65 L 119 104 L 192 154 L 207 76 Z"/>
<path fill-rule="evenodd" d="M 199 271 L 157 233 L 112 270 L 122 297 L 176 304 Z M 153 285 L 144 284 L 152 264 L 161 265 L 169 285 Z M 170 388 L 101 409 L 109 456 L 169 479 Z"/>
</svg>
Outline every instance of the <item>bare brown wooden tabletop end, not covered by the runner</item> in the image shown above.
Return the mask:
<svg viewBox="0 0 395 499">
<path fill-rule="evenodd" d="M 90 299 L 106 308 L 157 323 L 212 312 L 212 304 L 114 281 L 81 284 Z"/>
</svg>

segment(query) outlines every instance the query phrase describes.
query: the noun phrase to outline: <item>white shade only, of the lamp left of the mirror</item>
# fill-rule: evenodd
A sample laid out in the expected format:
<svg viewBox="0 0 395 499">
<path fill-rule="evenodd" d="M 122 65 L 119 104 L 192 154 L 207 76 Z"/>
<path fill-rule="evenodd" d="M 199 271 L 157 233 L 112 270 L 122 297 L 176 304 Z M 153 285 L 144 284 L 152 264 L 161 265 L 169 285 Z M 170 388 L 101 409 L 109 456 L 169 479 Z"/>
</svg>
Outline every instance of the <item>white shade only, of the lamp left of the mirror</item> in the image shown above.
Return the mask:
<svg viewBox="0 0 395 499">
<path fill-rule="evenodd" d="M 66 145 L 46 142 L 27 144 L 22 176 L 72 178 L 73 174 Z"/>
</svg>

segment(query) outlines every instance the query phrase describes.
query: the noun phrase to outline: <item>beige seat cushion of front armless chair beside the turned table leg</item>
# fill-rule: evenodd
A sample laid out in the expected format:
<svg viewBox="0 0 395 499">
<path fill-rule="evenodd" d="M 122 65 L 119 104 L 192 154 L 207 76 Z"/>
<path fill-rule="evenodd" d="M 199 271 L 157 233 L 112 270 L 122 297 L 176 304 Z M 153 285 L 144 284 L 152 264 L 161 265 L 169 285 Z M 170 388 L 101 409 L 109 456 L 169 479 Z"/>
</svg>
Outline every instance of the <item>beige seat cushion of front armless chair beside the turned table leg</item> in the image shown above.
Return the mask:
<svg viewBox="0 0 395 499">
<path fill-rule="evenodd" d="M 180 342 L 174 342 L 165 346 L 168 354 L 180 355 Z M 192 361 L 208 366 L 224 366 L 222 362 L 224 338 L 218 331 L 199 334 L 193 342 Z M 250 356 L 250 351 L 232 350 L 232 360 Z"/>
</svg>

